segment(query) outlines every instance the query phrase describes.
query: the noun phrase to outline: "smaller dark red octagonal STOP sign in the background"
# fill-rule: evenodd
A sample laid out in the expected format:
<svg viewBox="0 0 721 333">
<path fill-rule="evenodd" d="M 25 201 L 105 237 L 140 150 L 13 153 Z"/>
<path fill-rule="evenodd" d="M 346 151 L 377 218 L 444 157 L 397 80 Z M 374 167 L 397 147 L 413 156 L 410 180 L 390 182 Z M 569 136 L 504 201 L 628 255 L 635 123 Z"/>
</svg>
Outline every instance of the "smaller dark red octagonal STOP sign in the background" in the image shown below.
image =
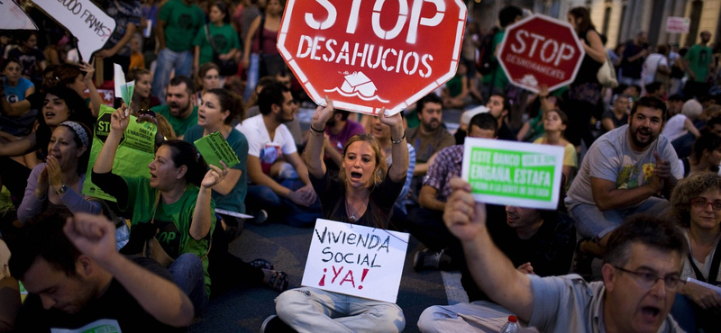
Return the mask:
<svg viewBox="0 0 721 333">
<path fill-rule="evenodd" d="M 512 84 L 537 93 L 573 82 L 584 54 L 569 23 L 534 14 L 508 26 L 498 60 Z"/>
</svg>

